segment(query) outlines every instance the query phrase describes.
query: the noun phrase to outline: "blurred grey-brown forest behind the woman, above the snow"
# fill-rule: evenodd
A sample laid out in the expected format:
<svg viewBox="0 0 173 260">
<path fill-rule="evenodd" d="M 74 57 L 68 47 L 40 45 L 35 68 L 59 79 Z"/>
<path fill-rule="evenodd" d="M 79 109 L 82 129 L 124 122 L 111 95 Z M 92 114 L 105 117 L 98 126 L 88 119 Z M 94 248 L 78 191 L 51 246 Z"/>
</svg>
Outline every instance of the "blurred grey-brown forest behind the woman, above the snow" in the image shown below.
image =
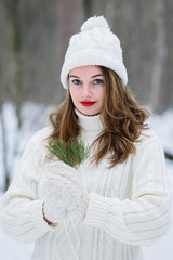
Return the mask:
<svg viewBox="0 0 173 260">
<path fill-rule="evenodd" d="M 0 0 L 0 128 L 6 186 L 11 170 L 4 104 L 13 104 L 22 129 L 26 102 L 62 102 L 59 74 L 69 37 L 93 15 L 104 15 L 120 38 L 129 87 L 138 102 L 155 114 L 173 107 L 172 0 Z M 39 113 L 37 120 L 42 109 Z"/>
</svg>

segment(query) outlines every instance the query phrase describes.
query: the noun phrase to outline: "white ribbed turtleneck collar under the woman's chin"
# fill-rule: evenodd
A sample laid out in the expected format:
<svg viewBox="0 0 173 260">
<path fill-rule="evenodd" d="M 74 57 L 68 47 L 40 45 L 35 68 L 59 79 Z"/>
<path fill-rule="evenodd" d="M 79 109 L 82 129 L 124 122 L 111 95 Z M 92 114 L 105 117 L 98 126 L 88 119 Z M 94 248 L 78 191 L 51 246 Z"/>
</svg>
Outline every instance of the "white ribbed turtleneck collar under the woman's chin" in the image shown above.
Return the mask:
<svg viewBox="0 0 173 260">
<path fill-rule="evenodd" d="M 104 123 L 101 118 L 101 114 L 95 116 L 85 116 L 78 109 L 75 110 L 78 116 L 79 126 L 86 131 L 103 131 Z"/>
</svg>

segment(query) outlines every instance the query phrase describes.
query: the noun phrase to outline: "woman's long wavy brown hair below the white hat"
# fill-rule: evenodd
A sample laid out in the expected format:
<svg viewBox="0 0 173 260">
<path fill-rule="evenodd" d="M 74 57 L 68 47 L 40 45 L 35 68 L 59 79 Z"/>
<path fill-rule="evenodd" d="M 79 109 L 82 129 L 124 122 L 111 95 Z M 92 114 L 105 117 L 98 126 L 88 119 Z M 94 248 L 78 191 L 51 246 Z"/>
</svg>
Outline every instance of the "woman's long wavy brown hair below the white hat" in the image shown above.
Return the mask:
<svg viewBox="0 0 173 260">
<path fill-rule="evenodd" d="M 105 77 L 105 102 L 101 113 L 104 131 L 94 141 L 97 152 L 93 157 L 96 165 L 109 152 L 110 167 L 125 161 L 130 154 L 135 154 L 134 142 L 139 141 L 142 130 L 147 128 L 145 120 L 149 112 L 136 103 L 128 87 L 111 69 L 101 67 Z M 78 117 L 69 91 L 58 109 L 50 115 L 53 131 L 49 138 L 55 141 L 68 141 L 77 138 L 80 131 Z M 93 144 L 93 145 L 94 145 Z"/>
</svg>

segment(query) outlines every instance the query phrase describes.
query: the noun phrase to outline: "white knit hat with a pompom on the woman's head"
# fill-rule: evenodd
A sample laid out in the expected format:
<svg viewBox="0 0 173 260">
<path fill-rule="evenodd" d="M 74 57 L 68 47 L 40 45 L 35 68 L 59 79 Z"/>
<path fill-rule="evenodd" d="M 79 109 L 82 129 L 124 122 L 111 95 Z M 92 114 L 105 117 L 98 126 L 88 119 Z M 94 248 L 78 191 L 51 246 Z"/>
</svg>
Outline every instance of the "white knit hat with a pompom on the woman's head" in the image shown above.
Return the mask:
<svg viewBox="0 0 173 260">
<path fill-rule="evenodd" d="M 122 49 L 118 37 L 110 31 L 103 16 L 89 18 L 81 27 L 81 32 L 70 38 L 62 67 L 61 81 L 68 88 L 68 74 L 72 68 L 98 65 L 111 68 L 128 83 L 128 74 L 122 58 Z"/>
</svg>

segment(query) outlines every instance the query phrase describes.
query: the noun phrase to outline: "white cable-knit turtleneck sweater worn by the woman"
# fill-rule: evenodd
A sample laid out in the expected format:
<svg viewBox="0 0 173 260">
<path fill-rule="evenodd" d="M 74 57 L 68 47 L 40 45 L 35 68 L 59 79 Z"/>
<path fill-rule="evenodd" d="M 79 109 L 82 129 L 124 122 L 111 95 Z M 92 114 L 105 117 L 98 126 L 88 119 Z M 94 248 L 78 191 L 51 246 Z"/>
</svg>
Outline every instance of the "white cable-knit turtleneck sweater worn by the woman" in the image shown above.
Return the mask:
<svg viewBox="0 0 173 260">
<path fill-rule="evenodd" d="M 90 145 L 103 130 L 99 115 L 77 115 L 80 138 Z M 43 220 L 38 188 L 46 156 L 43 140 L 50 131 L 36 133 L 24 152 L 1 199 L 3 229 L 19 242 L 35 242 L 32 260 L 143 260 L 141 246 L 157 242 L 170 221 L 170 191 L 157 135 L 146 130 L 136 155 L 111 169 L 106 159 L 94 168 L 86 159 L 79 169 L 83 190 L 91 193 L 84 221 L 69 218 L 52 227 Z"/>
</svg>

